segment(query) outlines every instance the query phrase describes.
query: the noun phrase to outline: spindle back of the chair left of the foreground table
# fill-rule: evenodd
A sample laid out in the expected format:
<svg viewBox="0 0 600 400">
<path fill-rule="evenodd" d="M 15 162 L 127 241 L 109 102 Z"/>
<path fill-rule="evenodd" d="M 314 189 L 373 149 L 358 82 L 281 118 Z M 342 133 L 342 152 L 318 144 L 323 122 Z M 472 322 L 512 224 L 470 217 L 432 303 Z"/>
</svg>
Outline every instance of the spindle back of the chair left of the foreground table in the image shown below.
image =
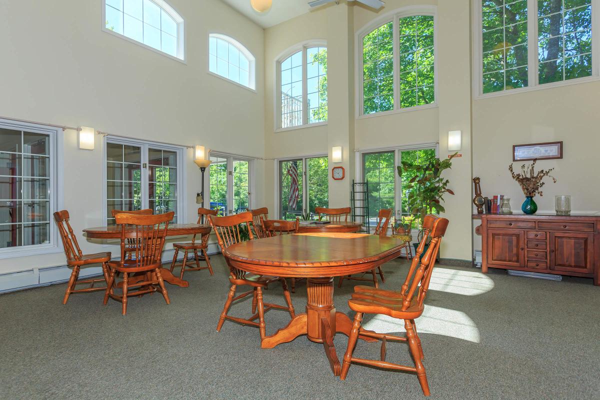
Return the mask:
<svg viewBox="0 0 600 400">
<path fill-rule="evenodd" d="M 252 233 L 254 229 L 253 216 L 249 211 L 228 216 L 209 215 L 208 220 L 211 222 L 212 230 L 217 234 L 217 242 L 219 243 L 219 247 L 223 254 L 225 253 L 225 249 L 229 246 L 242 242 L 239 225 L 246 224 L 248 236 L 250 237 L 248 240 L 254 240 L 254 234 Z M 229 271 L 232 278 L 244 278 L 244 271 L 233 267 L 229 263 L 229 258 L 225 257 L 225 260 L 227 261 L 227 265 L 229 265 Z"/>
</svg>

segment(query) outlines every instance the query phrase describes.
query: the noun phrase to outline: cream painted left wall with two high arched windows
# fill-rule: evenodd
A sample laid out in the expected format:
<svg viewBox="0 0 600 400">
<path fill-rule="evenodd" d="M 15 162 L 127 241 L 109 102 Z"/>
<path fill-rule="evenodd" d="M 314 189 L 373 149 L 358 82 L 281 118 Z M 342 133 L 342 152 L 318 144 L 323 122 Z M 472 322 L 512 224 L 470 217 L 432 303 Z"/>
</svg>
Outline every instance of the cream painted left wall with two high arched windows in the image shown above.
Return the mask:
<svg viewBox="0 0 600 400">
<path fill-rule="evenodd" d="M 101 1 L 2 1 L 0 115 L 94 127 L 112 134 L 178 143 L 249 157 L 265 155 L 264 31 L 218 0 L 169 0 L 185 19 L 187 63 L 101 31 Z M 10 16 L 10 17 L 7 17 Z M 208 74 L 208 34 L 230 35 L 256 56 L 256 92 Z M 74 229 L 103 225 L 104 149 L 77 149 L 64 132 L 64 208 Z M 184 160 L 187 221 L 196 219 L 200 172 Z M 264 201 L 257 162 L 256 200 Z M 181 239 L 180 239 L 181 240 Z M 112 250 L 80 236 L 84 252 Z M 0 273 L 64 265 L 57 252 L 0 260 Z"/>
</svg>

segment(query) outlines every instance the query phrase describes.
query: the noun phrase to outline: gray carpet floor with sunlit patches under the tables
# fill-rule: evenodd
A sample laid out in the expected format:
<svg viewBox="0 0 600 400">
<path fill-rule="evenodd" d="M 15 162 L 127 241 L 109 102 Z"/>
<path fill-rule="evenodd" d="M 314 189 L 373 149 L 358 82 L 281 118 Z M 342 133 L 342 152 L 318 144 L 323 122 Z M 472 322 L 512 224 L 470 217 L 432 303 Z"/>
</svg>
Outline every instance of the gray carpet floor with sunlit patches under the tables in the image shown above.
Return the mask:
<svg viewBox="0 0 600 400">
<path fill-rule="evenodd" d="M 305 336 L 271 350 L 254 327 L 226 321 L 216 332 L 229 282 L 220 255 L 208 271 L 186 273 L 189 288 L 102 305 L 103 293 L 61 300 L 65 284 L 0 296 L 1 399 L 409 399 L 422 398 L 415 375 L 352 365 L 334 377 L 322 345 Z M 386 264 L 385 288 L 400 288 L 406 261 Z M 335 288 L 338 311 L 356 282 Z M 305 283 L 292 295 L 304 311 Z M 280 286 L 265 301 L 283 304 Z M 432 399 L 600 399 L 600 287 L 495 270 L 437 266 L 417 329 Z M 232 315 L 250 314 L 250 297 Z M 266 313 L 267 334 L 289 321 Z M 368 315 L 380 332 L 403 324 Z M 335 345 L 343 357 L 347 337 Z M 356 356 L 377 358 L 379 344 L 359 341 Z M 406 344 L 388 360 L 410 362 Z"/>
</svg>

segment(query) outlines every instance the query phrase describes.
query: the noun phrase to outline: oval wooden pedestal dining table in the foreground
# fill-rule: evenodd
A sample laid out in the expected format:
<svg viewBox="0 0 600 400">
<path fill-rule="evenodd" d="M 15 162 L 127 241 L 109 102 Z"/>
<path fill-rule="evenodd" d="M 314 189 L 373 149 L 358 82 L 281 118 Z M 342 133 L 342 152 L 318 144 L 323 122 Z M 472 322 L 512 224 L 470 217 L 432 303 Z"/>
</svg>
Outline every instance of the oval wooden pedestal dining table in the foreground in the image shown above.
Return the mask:
<svg viewBox="0 0 600 400">
<path fill-rule="evenodd" d="M 273 348 L 307 335 L 310 341 L 323 344 L 332 371 L 340 375 L 333 339 L 336 332 L 350 335 L 352 321 L 335 311 L 334 277 L 367 272 L 397 258 L 403 243 L 372 234 L 296 233 L 236 243 L 226 249 L 224 256 L 233 267 L 246 272 L 308 278 L 306 312 L 263 339 L 261 347 Z"/>
</svg>

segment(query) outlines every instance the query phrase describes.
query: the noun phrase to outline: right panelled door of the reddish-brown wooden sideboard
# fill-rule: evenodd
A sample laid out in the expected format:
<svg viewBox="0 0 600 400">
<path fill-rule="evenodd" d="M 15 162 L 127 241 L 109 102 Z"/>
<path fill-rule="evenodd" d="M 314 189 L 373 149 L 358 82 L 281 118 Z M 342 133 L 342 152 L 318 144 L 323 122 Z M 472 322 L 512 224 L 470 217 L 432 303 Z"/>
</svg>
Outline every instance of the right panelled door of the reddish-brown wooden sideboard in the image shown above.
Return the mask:
<svg viewBox="0 0 600 400">
<path fill-rule="evenodd" d="M 592 273 L 593 251 L 593 234 L 550 232 L 550 269 Z"/>
</svg>

